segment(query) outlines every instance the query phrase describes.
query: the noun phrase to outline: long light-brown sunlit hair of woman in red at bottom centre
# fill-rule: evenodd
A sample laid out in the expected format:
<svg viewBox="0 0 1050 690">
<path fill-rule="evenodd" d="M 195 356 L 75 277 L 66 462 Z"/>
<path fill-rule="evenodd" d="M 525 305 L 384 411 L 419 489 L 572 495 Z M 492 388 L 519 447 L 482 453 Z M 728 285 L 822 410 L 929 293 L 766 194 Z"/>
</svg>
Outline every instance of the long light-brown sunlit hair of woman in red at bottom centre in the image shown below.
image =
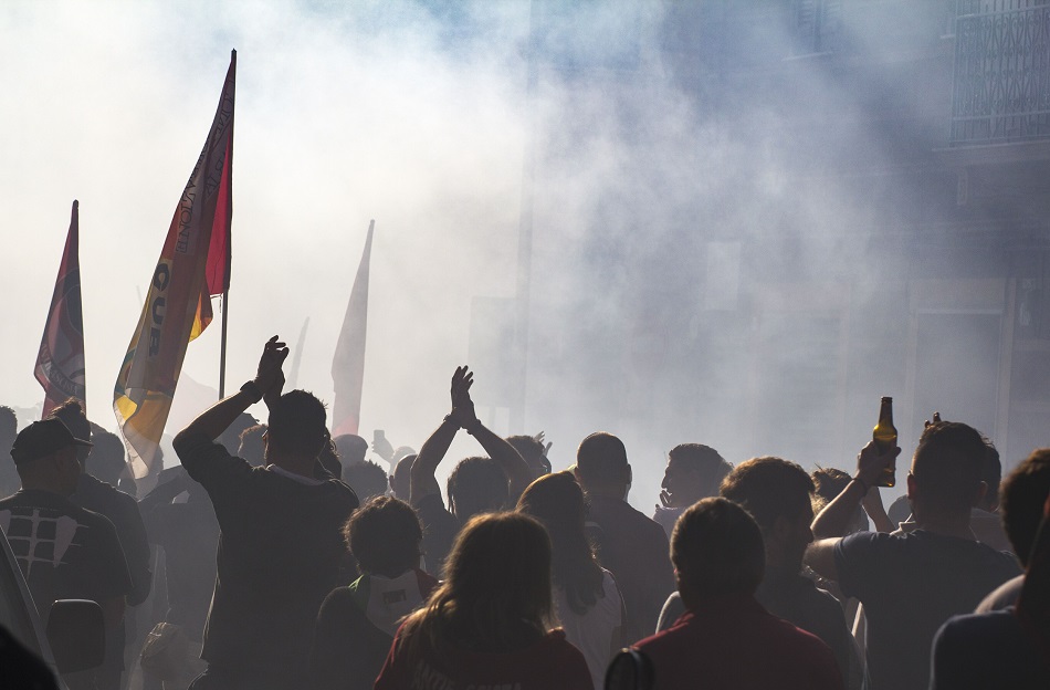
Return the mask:
<svg viewBox="0 0 1050 690">
<path fill-rule="evenodd" d="M 406 619 L 399 651 L 522 649 L 546 635 L 550 611 L 550 540 L 543 525 L 519 513 L 477 515 L 455 539 L 444 582 Z"/>
</svg>

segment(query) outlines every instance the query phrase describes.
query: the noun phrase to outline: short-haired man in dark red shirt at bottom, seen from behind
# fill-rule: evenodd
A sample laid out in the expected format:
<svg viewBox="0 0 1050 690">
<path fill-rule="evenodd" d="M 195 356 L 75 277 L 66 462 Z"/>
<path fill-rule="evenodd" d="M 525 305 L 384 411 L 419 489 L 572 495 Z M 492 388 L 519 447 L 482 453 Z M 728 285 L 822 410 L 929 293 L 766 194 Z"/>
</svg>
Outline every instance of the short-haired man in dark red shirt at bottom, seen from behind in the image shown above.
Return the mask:
<svg viewBox="0 0 1050 690">
<path fill-rule="evenodd" d="M 686 510 L 671 535 L 671 560 L 687 613 L 634 645 L 651 661 L 657 688 L 842 688 L 828 646 L 755 600 L 765 547 L 739 505 L 712 498 Z"/>
</svg>

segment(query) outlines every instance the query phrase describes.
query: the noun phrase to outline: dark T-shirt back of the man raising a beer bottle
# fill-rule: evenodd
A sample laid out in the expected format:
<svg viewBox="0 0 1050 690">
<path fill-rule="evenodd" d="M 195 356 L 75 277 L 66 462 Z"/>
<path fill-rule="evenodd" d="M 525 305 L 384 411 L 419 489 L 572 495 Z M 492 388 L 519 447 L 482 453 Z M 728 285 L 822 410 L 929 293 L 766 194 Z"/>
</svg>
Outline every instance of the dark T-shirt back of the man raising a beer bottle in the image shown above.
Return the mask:
<svg viewBox="0 0 1050 690">
<path fill-rule="evenodd" d="M 834 560 L 842 592 L 864 605 L 875 690 L 925 688 L 937 628 L 1019 572 L 1009 554 L 924 530 L 851 534 Z"/>
</svg>

